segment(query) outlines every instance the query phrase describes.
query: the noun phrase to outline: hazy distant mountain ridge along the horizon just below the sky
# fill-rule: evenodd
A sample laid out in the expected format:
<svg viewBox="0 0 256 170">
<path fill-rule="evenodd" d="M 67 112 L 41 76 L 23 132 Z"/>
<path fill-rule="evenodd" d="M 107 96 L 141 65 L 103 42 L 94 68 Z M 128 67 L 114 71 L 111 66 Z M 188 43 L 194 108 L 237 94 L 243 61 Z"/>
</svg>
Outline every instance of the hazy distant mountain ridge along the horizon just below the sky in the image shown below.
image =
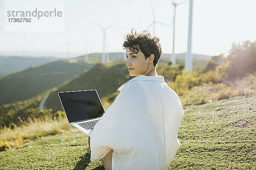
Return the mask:
<svg viewBox="0 0 256 170">
<path fill-rule="evenodd" d="M 182 64 L 180 60 L 185 59 L 186 53 L 176 54 L 177 64 Z M 171 54 L 162 54 L 162 59 L 159 63 L 167 63 L 170 61 Z M 88 54 L 88 62 L 95 64 L 99 63 L 102 60 L 102 53 L 92 53 Z M 197 60 L 207 62 L 212 58 L 212 56 L 193 54 L 194 62 Z M 109 53 L 110 62 L 122 61 L 124 60 L 124 53 L 122 52 L 113 52 Z M 75 58 L 55 58 L 55 57 L 19 57 L 19 56 L 0 56 L 0 77 L 12 74 L 18 71 L 23 71 L 29 67 L 38 67 L 49 62 L 54 62 L 58 60 L 72 60 L 73 62 L 84 61 L 84 55 Z M 205 62 L 200 64 L 201 67 L 206 67 Z"/>
</svg>

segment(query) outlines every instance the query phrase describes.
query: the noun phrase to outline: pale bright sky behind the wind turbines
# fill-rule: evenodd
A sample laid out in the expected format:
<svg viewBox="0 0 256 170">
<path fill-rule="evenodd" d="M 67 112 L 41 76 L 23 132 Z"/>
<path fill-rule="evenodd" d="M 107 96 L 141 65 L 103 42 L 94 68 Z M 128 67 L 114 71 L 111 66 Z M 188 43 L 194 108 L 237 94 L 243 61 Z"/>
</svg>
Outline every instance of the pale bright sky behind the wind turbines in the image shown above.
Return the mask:
<svg viewBox="0 0 256 170">
<path fill-rule="evenodd" d="M 176 3 L 184 0 L 176 0 Z M 27 4 L 29 6 L 29 4 Z M 172 0 L 153 0 L 156 20 L 172 25 Z M 228 54 L 232 42 L 256 41 L 256 0 L 193 0 L 192 53 Z M 0 55 L 16 51 L 85 53 L 124 52 L 124 36 L 153 22 L 150 0 L 64 0 L 64 31 L 4 31 L 4 0 L 0 0 Z M 187 50 L 189 3 L 177 6 L 175 53 Z M 172 53 L 173 28 L 156 24 L 163 53 Z M 153 29 L 148 28 L 153 34 Z M 54 56 L 53 56 L 54 57 Z"/>
</svg>

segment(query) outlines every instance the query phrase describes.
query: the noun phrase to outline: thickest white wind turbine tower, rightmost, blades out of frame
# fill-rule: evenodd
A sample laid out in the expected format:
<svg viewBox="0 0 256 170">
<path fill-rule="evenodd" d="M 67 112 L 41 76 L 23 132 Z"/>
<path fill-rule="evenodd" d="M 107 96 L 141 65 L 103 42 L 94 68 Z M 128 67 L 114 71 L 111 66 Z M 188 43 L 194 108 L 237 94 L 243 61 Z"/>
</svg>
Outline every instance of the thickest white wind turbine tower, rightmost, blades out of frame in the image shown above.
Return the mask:
<svg viewBox="0 0 256 170">
<path fill-rule="evenodd" d="M 185 66 L 184 69 L 192 72 L 193 66 L 193 55 L 191 54 L 191 37 L 192 37 L 192 8 L 193 0 L 189 3 L 189 36 L 188 36 L 188 50 L 186 52 Z"/>
</svg>

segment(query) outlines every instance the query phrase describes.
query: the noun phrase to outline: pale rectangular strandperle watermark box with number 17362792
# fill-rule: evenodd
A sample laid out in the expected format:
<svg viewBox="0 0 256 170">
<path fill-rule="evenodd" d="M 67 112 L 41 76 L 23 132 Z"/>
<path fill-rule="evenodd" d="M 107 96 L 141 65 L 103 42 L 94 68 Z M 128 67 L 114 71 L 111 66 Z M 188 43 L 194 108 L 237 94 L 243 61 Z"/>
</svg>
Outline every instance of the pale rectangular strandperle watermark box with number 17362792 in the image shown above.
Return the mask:
<svg viewBox="0 0 256 170">
<path fill-rule="evenodd" d="M 5 0 L 5 31 L 64 31 L 64 0 Z"/>
</svg>

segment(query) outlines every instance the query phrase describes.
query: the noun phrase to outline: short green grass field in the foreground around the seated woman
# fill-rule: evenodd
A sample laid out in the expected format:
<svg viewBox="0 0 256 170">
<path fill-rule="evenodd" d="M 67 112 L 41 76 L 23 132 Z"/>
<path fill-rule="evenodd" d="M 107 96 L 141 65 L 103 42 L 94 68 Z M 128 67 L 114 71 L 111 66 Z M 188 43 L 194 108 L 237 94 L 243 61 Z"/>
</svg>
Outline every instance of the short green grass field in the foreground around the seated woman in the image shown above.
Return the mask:
<svg viewBox="0 0 256 170">
<path fill-rule="evenodd" d="M 236 96 L 185 109 L 181 147 L 169 170 L 256 169 L 256 96 Z M 70 131 L 0 153 L 0 170 L 103 170 L 90 162 L 87 136 Z"/>
</svg>

